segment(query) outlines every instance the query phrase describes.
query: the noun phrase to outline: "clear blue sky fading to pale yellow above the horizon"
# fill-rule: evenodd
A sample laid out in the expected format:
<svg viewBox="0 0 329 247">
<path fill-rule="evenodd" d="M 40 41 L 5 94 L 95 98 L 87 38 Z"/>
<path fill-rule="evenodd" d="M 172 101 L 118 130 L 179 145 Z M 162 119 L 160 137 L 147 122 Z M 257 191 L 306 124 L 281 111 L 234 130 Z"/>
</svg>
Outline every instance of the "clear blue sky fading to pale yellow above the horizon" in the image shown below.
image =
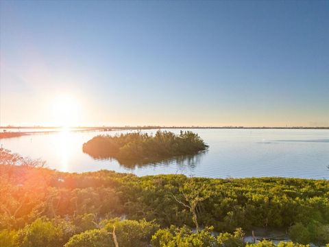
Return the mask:
<svg viewBox="0 0 329 247">
<path fill-rule="evenodd" d="M 329 1 L 0 1 L 0 126 L 329 126 Z"/>
</svg>

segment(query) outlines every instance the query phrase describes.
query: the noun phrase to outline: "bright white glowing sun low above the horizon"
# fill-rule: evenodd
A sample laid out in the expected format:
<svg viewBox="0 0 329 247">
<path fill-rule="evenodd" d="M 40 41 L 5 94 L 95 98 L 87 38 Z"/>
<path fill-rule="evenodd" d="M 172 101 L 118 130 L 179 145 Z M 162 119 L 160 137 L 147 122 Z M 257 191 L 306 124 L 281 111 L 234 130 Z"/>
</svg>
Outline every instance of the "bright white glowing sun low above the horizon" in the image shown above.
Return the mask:
<svg viewBox="0 0 329 247">
<path fill-rule="evenodd" d="M 79 125 L 80 105 L 68 93 L 58 95 L 53 101 L 53 123 L 55 126 L 69 128 Z"/>
</svg>

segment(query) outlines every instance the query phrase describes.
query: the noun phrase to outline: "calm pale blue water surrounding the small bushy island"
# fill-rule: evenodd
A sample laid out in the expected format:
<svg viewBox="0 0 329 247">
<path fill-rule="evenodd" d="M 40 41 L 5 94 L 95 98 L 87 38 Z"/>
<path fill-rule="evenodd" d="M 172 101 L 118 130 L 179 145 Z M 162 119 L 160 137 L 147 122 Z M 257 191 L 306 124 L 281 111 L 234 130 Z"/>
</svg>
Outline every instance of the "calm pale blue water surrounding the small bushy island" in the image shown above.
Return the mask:
<svg viewBox="0 0 329 247">
<path fill-rule="evenodd" d="M 180 130 L 170 130 L 179 133 Z M 283 176 L 329 179 L 329 130 L 197 129 L 210 146 L 196 156 L 156 164 L 125 167 L 116 160 L 95 160 L 82 152 L 82 144 L 97 134 L 111 132 L 59 132 L 1 139 L 3 148 L 63 172 L 110 169 L 138 176 L 185 174 L 210 178 Z M 143 132 L 156 132 L 145 130 Z"/>
</svg>

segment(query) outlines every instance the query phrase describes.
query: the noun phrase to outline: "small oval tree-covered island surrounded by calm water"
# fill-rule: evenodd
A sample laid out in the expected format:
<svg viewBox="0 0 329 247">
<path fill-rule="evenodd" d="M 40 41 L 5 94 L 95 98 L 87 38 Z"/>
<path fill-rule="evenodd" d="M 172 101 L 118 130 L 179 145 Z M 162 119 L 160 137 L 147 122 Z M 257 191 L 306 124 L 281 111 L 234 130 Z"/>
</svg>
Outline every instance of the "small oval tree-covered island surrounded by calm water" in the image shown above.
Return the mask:
<svg viewBox="0 0 329 247">
<path fill-rule="evenodd" d="M 134 132 L 117 136 L 99 135 L 84 143 L 82 150 L 94 158 L 116 158 L 121 164 L 161 161 L 174 156 L 197 154 L 208 146 L 191 131 Z"/>
</svg>

